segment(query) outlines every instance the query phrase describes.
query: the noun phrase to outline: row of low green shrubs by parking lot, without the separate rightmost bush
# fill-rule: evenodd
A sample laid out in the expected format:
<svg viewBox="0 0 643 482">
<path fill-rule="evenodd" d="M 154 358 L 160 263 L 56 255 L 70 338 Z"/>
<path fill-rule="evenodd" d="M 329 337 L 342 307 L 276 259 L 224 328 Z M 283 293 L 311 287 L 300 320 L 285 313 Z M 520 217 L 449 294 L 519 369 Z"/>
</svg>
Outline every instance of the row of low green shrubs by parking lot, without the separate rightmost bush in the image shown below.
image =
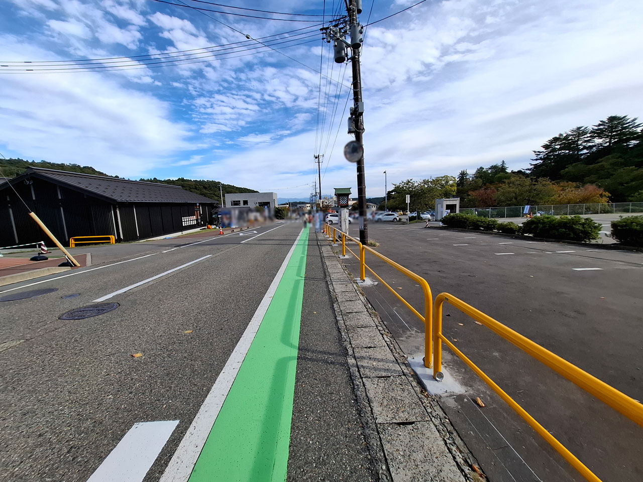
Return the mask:
<svg viewBox="0 0 643 482">
<path fill-rule="evenodd" d="M 641 217 L 643 219 L 643 217 Z M 514 222 L 498 222 L 465 213 L 448 214 L 442 218 L 442 224 L 450 228 L 475 229 L 479 231 L 500 231 L 507 234 L 534 235 L 540 238 L 552 238 L 569 241 L 591 241 L 599 237 L 601 225 L 589 218 L 580 216 L 539 216 L 523 222 L 522 226 Z M 639 226 L 639 225 L 637 225 Z M 643 220 L 640 224 L 643 229 Z"/>
</svg>

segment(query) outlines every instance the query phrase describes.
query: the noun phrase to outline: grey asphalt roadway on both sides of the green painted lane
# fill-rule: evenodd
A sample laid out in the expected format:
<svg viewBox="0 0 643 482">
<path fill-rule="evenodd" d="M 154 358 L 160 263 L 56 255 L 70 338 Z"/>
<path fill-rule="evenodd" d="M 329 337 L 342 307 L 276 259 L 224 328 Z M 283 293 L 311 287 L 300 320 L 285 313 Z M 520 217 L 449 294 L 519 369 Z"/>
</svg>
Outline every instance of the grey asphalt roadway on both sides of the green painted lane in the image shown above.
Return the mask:
<svg viewBox="0 0 643 482">
<path fill-rule="evenodd" d="M 256 234 L 114 245 L 101 249 L 111 249 L 117 262 L 2 287 L 0 297 L 57 290 L 0 302 L 0 341 L 14 342 L 0 345 L 0 481 L 86 481 L 134 424 L 177 420 L 145 476 L 157 481 L 301 228 L 281 223 Z M 294 394 L 295 413 L 305 416 L 293 423 L 289 463 L 296 474 L 316 461 L 317 479 L 334 467 L 343 479 L 371 480 L 377 461 L 363 449 L 320 254 L 314 237 L 309 243 Z M 120 306 L 80 321 L 59 319 L 102 298 Z M 318 407 L 329 396 L 321 375 L 334 380 L 332 413 Z"/>
</svg>

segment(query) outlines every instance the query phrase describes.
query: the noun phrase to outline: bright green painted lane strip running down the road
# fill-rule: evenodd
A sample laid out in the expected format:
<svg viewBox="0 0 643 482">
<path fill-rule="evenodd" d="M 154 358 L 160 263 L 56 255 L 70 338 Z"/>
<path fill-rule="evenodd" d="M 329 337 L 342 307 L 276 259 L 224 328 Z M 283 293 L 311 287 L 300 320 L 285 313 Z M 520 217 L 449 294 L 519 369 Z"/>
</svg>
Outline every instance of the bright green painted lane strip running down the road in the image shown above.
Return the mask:
<svg viewBox="0 0 643 482">
<path fill-rule="evenodd" d="M 304 229 L 189 482 L 284 481 L 309 229 Z"/>
</svg>

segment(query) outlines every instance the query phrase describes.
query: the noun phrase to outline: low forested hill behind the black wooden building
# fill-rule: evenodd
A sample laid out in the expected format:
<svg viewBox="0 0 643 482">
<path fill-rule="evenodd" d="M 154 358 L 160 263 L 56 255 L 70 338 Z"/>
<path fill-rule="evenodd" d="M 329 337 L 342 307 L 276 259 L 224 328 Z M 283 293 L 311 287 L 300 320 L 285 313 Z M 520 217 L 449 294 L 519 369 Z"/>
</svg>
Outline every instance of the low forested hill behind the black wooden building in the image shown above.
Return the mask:
<svg viewBox="0 0 643 482">
<path fill-rule="evenodd" d="M 5 175 L 5 177 L 11 178 L 23 174 L 23 172 L 26 171 L 28 167 L 40 167 L 45 169 L 57 169 L 59 171 L 81 172 L 83 174 L 107 175 L 104 172 L 100 172 L 91 166 L 80 166 L 78 164 L 50 163 L 47 161 L 24 161 L 23 159 L 0 159 L 0 171 L 3 175 Z M 110 177 L 119 176 L 115 175 Z M 186 191 L 201 194 L 202 196 L 209 197 L 214 201 L 221 200 L 221 191 L 223 192 L 224 196 L 226 195 L 226 193 L 258 192 L 253 189 L 233 186 L 232 184 L 219 183 L 219 181 L 202 181 L 184 179 L 183 177 L 179 177 L 179 179 L 156 179 L 155 177 L 154 179 L 140 180 L 147 181 L 148 183 L 173 184 L 174 186 L 181 186 Z M 219 184 L 221 184 L 221 191 L 219 190 Z"/>
</svg>

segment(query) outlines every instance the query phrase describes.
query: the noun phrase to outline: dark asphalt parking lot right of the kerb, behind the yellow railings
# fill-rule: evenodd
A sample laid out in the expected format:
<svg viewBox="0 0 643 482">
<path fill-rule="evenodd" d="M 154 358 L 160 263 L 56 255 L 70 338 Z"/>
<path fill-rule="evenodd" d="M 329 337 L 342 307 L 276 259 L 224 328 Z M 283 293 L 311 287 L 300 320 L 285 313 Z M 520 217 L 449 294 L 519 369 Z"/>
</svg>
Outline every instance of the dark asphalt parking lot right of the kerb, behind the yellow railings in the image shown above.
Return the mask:
<svg viewBox="0 0 643 482">
<path fill-rule="evenodd" d="M 424 277 L 434 296 L 449 292 L 643 400 L 642 253 L 422 226 L 368 229 L 377 251 Z M 350 233 L 358 237 L 356 227 Z M 415 282 L 374 256 L 367 263 L 422 311 Z M 363 289 L 404 352 L 421 354 L 422 322 L 381 283 Z M 643 479 L 638 425 L 454 308 L 444 313 L 449 339 L 600 478 Z M 440 403 L 491 480 L 582 479 L 448 348 L 444 364 L 466 392 Z M 485 408 L 472 402 L 478 396 Z"/>
</svg>

